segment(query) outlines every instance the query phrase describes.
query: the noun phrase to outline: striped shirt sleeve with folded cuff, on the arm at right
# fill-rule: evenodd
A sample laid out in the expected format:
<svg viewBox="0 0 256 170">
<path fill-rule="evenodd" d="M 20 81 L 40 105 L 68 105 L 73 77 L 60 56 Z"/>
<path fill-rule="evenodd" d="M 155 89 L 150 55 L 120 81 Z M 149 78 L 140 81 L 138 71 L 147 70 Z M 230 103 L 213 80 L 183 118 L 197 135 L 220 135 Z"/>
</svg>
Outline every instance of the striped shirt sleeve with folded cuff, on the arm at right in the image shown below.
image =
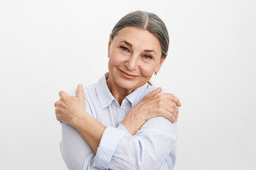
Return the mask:
<svg viewBox="0 0 256 170">
<path fill-rule="evenodd" d="M 177 123 L 164 117 L 149 119 L 133 136 L 123 124 L 109 126 L 103 132 L 93 165 L 111 170 L 155 170 L 171 156 L 174 166 L 176 144 Z"/>
</svg>

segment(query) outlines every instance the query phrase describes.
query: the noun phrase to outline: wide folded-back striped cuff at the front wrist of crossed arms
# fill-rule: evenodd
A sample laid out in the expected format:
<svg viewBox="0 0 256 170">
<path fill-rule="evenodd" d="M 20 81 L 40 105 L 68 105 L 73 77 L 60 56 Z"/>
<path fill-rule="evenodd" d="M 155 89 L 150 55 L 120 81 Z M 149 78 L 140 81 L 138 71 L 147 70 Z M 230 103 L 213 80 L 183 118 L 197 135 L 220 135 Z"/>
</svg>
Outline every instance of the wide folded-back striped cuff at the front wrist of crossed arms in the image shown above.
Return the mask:
<svg viewBox="0 0 256 170">
<path fill-rule="evenodd" d="M 122 126 L 122 124 L 119 126 Z M 125 127 L 125 130 L 123 127 L 120 128 L 121 129 L 108 126 L 104 130 L 93 166 L 99 169 L 108 169 L 112 155 L 114 154 L 119 142 L 128 133 Z"/>
</svg>

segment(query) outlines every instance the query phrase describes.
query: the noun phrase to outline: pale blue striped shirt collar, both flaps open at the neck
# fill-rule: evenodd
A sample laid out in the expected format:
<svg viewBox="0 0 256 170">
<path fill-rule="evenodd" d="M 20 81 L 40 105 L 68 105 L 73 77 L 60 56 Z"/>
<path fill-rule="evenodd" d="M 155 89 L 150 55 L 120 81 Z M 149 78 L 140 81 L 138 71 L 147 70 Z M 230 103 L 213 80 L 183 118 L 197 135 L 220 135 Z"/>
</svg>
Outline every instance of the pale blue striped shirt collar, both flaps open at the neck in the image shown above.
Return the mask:
<svg viewBox="0 0 256 170">
<path fill-rule="evenodd" d="M 109 106 L 115 98 L 110 93 L 108 85 L 106 82 L 106 77 L 108 78 L 109 73 L 106 73 L 96 84 L 96 92 L 101 104 L 101 108 L 106 108 Z M 144 84 L 141 87 L 136 88 L 132 93 L 126 96 L 129 102 L 131 102 L 132 107 L 139 103 L 139 101 L 144 97 L 144 92 L 148 88 L 148 83 Z"/>
</svg>

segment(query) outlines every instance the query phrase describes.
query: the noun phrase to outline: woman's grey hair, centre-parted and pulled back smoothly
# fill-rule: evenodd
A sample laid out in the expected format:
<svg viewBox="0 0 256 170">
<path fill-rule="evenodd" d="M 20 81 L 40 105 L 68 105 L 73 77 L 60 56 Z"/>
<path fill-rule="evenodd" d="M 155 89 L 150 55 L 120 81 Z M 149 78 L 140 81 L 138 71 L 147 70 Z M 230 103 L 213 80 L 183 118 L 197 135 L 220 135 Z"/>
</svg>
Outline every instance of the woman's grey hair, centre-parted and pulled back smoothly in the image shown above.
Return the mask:
<svg viewBox="0 0 256 170">
<path fill-rule="evenodd" d="M 164 22 L 154 13 L 145 11 L 134 11 L 125 15 L 112 29 L 111 40 L 126 26 L 135 26 L 138 29 L 148 30 L 155 35 L 161 45 L 162 56 L 164 58 L 169 47 L 169 35 Z"/>
</svg>

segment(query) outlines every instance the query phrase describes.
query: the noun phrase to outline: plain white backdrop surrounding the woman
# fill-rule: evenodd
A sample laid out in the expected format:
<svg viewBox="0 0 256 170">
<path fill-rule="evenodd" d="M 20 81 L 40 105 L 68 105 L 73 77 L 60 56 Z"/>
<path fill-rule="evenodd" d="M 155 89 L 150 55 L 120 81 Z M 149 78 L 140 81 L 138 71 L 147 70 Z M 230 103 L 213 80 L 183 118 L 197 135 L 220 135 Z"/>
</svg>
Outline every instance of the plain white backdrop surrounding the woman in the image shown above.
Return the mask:
<svg viewBox="0 0 256 170">
<path fill-rule="evenodd" d="M 155 86 L 181 100 L 175 170 L 256 170 L 255 0 L 0 0 L 0 169 L 67 170 L 58 92 L 108 71 L 115 23 L 164 20 L 169 55 Z"/>
</svg>

